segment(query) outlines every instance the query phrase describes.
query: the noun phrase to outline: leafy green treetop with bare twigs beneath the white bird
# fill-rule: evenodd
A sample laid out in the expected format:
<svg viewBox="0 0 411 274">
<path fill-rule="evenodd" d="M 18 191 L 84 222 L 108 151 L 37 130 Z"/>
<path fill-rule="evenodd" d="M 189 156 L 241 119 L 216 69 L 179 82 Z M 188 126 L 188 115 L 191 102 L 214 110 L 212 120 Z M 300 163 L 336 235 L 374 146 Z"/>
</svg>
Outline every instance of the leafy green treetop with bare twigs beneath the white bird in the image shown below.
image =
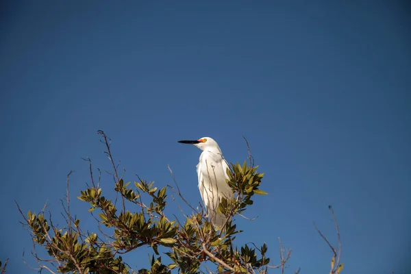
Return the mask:
<svg viewBox="0 0 411 274">
<path fill-rule="evenodd" d="M 291 249 L 282 247 L 280 240 L 280 262 L 269 265 L 266 256 L 267 246 L 263 243 L 242 245 L 236 247 L 236 234 L 241 233 L 236 224 L 227 221 L 223 229 L 214 229 L 207 219 L 203 209 L 197 210 L 190 206 L 182 196 L 177 182 L 175 188 L 164 186 L 158 188 L 153 182 L 139 179 L 125 183 L 123 175 L 119 175 L 119 166 L 115 164 L 111 151 L 111 140 L 104 132 L 98 132 L 105 145 L 105 153 L 112 164 L 112 177 L 116 199 L 107 199 L 100 187 L 101 172 L 98 179 L 93 174 L 92 162 L 88 161 L 90 169 L 90 186 L 80 191 L 77 197 L 90 204 L 90 214 L 95 217 L 98 230 L 85 232 L 80 219 L 73 217 L 70 212 L 69 178 L 67 175 L 67 190 L 63 208 L 66 227 L 58 228 L 53 225 L 51 214 L 45 216 L 45 208 L 37 214 L 29 211 L 27 216 L 21 212 L 24 222 L 32 235 L 34 247 L 47 250 L 49 258 L 40 258 L 34 249 L 38 262 L 38 270 L 50 273 L 267 273 L 268 269 L 284 269 L 291 256 Z M 247 141 L 247 140 L 246 140 Z M 248 142 L 247 142 L 248 147 Z M 219 205 L 219 213 L 228 219 L 242 214 L 253 204 L 254 195 L 266 195 L 260 190 L 264 173 L 258 173 L 258 166 L 253 166 L 253 158 L 249 153 L 249 164 L 232 164 L 227 171 L 227 184 L 235 193 L 235 199 L 223 199 Z M 171 170 L 170 170 L 171 171 Z M 173 175 L 172 171 L 171 174 Z M 175 181 L 175 180 L 174 180 Z M 167 189 L 169 188 L 169 189 Z M 164 212 L 167 206 L 167 190 L 173 191 L 190 206 L 190 215 L 184 214 L 184 222 L 173 215 Z M 119 199 L 117 199 L 119 197 Z M 137 211 L 131 211 L 133 208 Z M 97 216 L 95 214 L 97 212 Z M 334 215 L 334 212 L 332 212 Z M 335 215 L 334 215 L 335 218 Z M 338 225 L 337 231 L 338 231 Z M 319 231 L 319 230 L 318 230 Z M 321 232 L 319 231 L 321 234 Z M 323 234 L 321 234 L 323 236 Z M 327 239 L 323 236 L 327 241 Z M 338 232 L 339 238 L 339 232 Z M 329 242 L 327 241 L 329 244 Z M 147 246 L 152 249 L 150 269 L 134 270 L 123 261 L 122 255 Z M 332 247 L 331 245 L 329 245 Z M 159 251 L 160 249 L 160 251 Z M 334 256 L 332 271 L 339 273 L 343 264 L 339 264 L 340 248 L 332 247 Z M 160 252 L 166 254 L 169 263 L 164 264 Z"/>
</svg>

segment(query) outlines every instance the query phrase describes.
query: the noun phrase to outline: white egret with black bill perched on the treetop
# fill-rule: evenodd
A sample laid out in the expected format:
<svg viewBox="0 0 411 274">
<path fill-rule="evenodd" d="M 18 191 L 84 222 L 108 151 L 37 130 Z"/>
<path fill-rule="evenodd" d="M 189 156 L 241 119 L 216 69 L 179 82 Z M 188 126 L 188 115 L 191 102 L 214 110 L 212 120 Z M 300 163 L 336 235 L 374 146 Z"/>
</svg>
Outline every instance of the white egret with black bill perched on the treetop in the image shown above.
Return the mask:
<svg viewBox="0 0 411 274">
<path fill-rule="evenodd" d="M 195 145 L 203 152 L 197 164 L 199 190 L 203 204 L 211 223 L 216 229 L 223 229 L 227 218 L 224 214 L 217 213 L 221 199 L 233 199 L 234 193 L 225 179 L 229 179 L 227 169 L 229 166 L 221 153 L 217 142 L 210 137 L 198 140 L 179 140 L 183 144 Z"/>
</svg>

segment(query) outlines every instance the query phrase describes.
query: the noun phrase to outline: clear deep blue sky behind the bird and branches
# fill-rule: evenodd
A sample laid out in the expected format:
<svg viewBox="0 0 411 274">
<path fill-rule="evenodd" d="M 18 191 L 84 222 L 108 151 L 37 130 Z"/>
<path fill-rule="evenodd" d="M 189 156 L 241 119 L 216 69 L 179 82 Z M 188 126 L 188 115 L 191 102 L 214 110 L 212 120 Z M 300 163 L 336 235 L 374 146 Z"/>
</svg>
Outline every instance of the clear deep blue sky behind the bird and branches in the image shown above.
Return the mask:
<svg viewBox="0 0 411 274">
<path fill-rule="evenodd" d="M 406 273 L 410 5 L 337 2 L 1 1 L 0 260 L 10 273 L 36 273 L 21 260 L 25 249 L 34 264 L 14 200 L 24 212 L 48 200 L 62 225 L 75 170 L 71 210 L 92 228 L 75 197 L 89 182 L 81 158 L 110 167 L 97 129 L 127 181 L 171 184 L 170 164 L 191 203 L 201 151 L 177 140 L 210 136 L 242 162 L 245 135 L 269 195 L 247 212 L 256 221 L 237 219 L 239 242 L 267 242 L 275 263 L 281 237 L 288 273 L 328 273 L 313 222 L 335 244 L 331 204 L 344 273 Z M 129 263 L 147 266 L 148 252 Z"/>
</svg>

